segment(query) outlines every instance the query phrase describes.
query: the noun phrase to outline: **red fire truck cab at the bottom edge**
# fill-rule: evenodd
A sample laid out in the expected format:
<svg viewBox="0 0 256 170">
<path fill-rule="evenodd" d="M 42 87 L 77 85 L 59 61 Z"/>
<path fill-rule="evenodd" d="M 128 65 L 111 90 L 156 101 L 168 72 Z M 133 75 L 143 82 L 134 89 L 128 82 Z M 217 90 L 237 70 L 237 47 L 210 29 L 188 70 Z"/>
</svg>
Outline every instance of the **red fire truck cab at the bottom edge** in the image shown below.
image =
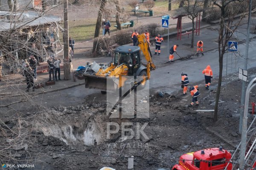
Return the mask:
<svg viewBox="0 0 256 170">
<path fill-rule="evenodd" d="M 232 169 L 231 153 L 219 148 L 209 148 L 197 152 L 186 153 L 180 156 L 179 164 L 174 165 L 172 170 L 227 170 Z M 227 165 L 228 164 L 228 165 Z"/>
</svg>

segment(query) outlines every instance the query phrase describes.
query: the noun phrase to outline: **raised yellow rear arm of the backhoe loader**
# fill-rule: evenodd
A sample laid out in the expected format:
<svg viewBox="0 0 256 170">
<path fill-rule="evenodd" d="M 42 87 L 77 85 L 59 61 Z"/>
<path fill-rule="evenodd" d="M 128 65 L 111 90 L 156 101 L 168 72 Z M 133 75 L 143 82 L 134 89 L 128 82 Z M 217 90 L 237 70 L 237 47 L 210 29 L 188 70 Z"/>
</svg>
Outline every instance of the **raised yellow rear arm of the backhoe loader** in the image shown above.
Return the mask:
<svg viewBox="0 0 256 170">
<path fill-rule="evenodd" d="M 149 70 L 156 69 L 156 66 L 154 65 L 154 62 L 152 60 L 152 55 L 151 55 L 151 51 L 149 49 L 148 41 L 146 40 L 146 37 L 144 34 L 138 35 L 138 42 L 139 42 L 138 46 L 140 47 L 140 50 L 143 52 L 145 59 L 147 61 L 147 67 L 150 66 L 147 69 L 149 69 Z"/>
</svg>

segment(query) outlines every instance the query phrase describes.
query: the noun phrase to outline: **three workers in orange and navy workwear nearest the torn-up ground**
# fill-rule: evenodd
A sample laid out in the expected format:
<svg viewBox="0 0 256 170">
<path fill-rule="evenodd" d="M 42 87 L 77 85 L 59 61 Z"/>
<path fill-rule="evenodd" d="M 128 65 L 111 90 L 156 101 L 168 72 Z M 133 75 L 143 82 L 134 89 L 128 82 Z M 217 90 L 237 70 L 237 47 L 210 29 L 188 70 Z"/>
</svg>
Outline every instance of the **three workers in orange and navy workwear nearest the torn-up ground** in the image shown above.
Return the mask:
<svg viewBox="0 0 256 170">
<path fill-rule="evenodd" d="M 209 86 L 211 84 L 211 79 L 212 79 L 212 69 L 211 66 L 208 65 L 202 73 L 204 74 L 204 79 L 205 79 L 205 89 L 209 90 Z M 187 89 L 189 86 L 189 78 L 188 75 L 185 73 L 181 73 L 181 88 L 183 88 L 183 95 L 187 94 Z M 199 87 L 198 85 L 192 86 L 189 88 L 189 92 L 192 95 L 192 102 L 190 103 L 190 107 L 192 107 L 195 103 L 196 106 L 199 105 L 198 103 L 198 96 L 200 95 L 199 92 Z"/>
</svg>

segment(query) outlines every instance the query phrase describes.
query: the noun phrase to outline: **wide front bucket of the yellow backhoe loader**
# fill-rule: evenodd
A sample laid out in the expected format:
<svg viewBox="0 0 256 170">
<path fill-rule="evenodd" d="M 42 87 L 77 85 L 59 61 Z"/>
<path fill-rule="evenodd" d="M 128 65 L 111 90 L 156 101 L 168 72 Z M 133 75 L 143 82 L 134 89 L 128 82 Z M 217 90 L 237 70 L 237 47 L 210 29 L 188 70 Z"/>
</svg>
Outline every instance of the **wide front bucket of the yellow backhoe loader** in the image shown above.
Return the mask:
<svg viewBox="0 0 256 170">
<path fill-rule="evenodd" d="M 118 89 L 119 80 L 117 78 L 100 77 L 96 75 L 84 75 L 85 88 L 98 89 L 102 91 L 114 92 Z"/>
</svg>

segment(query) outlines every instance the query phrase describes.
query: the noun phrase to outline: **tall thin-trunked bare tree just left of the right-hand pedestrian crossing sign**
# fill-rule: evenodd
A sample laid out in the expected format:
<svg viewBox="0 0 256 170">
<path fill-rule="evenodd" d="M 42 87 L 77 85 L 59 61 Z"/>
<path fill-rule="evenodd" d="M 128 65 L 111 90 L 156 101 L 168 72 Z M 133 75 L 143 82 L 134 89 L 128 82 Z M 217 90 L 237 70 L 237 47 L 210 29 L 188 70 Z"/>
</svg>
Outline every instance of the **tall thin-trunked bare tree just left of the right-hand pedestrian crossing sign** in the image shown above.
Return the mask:
<svg viewBox="0 0 256 170">
<path fill-rule="evenodd" d="M 236 29 L 241 26 L 241 20 L 244 16 L 244 13 L 242 13 L 241 17 L 238 20 L 235 20 L 235 15 L 239 12 L 239 10 L 235 8 L 235 6 L 240 8 L 241 1 L 242 0 L 221 0 L 221 2 L 218 3 L 219 1 L 213 0 L 213 4 L 221 9 L 218 28 L 219 78 L 215 98 L 214 121 L 218 120 L 218 101 L 221 92 L 223 56 L 227 52 L 228 41 L 232 38 L 232 35 L 236 31 Z"/>
</svg>

